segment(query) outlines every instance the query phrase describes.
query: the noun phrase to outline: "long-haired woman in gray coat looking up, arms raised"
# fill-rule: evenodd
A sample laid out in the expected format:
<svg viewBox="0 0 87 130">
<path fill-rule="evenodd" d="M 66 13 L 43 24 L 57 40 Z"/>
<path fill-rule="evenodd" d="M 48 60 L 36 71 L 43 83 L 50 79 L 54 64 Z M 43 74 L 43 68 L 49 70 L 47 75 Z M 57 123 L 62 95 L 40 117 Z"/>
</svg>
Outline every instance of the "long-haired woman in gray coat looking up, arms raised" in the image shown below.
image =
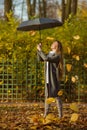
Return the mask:
<svg viewBox="0 0 87 130">
<path fill-rule="evenodd" d="M 58 96 L 60 88 L 59 80 L 63 72 L 62 44 L 59 41 L 54 41 L 51 45 L 51 51 L 46 55 L 41 49 L 41 43 L 37 45 L 38 57 L 45 61 L 45 113 L 44 117 L 49 112 L 49 104 L 46 99 L 49 97 L 56 98 L 59 118 L 62 117 L 62 101 Z"/>
</svg>

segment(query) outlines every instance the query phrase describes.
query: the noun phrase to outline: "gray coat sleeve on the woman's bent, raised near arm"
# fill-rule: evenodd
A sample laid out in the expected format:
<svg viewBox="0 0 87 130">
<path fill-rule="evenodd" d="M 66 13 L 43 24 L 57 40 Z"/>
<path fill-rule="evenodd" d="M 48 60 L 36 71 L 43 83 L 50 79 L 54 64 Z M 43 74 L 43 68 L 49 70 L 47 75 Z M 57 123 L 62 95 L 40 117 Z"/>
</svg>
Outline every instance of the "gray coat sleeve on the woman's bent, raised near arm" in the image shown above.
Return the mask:
<svg viewBox="0 0 87 130">
<path fill-rule="evenodd" d="M 58 54 L 56 54 L 56 55 L 54 55 L 52 57 L 48 57 L 42 51 L 38 51 L 38 54 L 43 59 L 43 61 L 49 61 L 49 62 L 52 62 L 52 63 L 58 63 L 59 60 L 60 60 L 60 56 Z"/>
</svg>

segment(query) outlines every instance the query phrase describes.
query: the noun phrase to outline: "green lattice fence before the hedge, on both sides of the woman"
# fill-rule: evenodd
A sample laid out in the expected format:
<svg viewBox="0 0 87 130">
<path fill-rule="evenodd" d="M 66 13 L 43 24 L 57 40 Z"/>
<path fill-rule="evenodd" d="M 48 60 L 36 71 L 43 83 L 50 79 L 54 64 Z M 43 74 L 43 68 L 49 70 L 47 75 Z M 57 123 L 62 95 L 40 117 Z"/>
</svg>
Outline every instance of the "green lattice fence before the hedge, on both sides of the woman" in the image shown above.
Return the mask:
<svg viewBox="0 0 87 130">
<path fill-rule="evenodd" d="M 63 100 L 87 101 L 87 68 L 65 60 Z M 79 70 L 80 69 L 80 70 Z M 44 63 L 29 59 L 0 61 L 0 101 L 44 100 Z"/>
</svg>

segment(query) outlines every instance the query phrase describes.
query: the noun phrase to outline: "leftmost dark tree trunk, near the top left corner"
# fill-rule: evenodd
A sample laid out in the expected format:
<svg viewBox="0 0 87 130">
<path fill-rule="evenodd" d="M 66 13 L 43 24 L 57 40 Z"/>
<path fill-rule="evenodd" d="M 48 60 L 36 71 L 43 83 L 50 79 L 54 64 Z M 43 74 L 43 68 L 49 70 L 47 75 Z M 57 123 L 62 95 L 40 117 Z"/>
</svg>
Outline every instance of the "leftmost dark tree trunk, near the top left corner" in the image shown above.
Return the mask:
<svg viewBox="0 0 87 130">
<path fill-rule="evenodd" d="M 4 17 L 8 21 L 7 13 L 12 11 L 12 0 L 4 0 Z"/>
</svg>

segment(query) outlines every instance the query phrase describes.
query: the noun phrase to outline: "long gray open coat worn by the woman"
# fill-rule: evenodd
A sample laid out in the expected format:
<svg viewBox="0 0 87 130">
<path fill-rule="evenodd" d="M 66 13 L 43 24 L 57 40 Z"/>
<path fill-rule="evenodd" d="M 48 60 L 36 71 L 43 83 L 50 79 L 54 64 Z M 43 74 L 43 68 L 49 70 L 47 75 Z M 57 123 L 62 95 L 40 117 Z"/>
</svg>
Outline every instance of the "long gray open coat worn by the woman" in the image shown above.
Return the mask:
<svg viewBox="0 0 87 130">
<path fill-rule="evenodd" d="M 45 79 L 46 79 L 46 62 L 49 62 L 49 84 L 45 83 L 45 96 L 46 97 L 57 97 L 58 91 L 60 90 L 59 75 L 58 75 L 58 64 L 60 61 L 59 54 L 53 54 L 52 56 L 45 55 L 44 52 L 38 51 L 38 58 L 45 61 Z"/>
</svg>

